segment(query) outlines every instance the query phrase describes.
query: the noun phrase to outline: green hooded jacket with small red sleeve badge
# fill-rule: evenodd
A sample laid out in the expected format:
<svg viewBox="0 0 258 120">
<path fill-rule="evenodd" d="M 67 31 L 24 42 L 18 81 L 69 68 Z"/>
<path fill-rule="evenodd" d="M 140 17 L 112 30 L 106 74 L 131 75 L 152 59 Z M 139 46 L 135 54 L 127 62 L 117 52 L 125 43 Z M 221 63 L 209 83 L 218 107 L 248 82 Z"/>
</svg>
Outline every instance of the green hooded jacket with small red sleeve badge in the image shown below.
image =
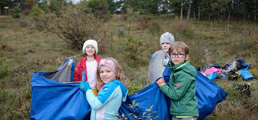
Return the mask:
<svg viewBox="0 0 258 120">
<path fill-rule="evenodd" d="M 199 116 L 198 101 L 195 96 L 197 72 L 188 62 L 174 65 L 169 64 L 171 69 L 169 86 L 162 84 L 160 90 L 170 97 L 170 114 Z"/>
</svg>

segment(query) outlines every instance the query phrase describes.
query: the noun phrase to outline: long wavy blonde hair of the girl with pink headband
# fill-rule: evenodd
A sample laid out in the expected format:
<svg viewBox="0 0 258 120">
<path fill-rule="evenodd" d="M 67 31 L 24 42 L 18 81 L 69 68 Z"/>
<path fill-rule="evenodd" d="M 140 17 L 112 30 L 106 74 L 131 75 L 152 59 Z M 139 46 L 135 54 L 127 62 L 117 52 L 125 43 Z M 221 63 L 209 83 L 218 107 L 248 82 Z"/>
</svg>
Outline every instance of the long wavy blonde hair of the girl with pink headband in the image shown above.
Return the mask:
<svg viewBox="0 0 258 120">
<path fill-rule="evenodd" d="M 107 59 L 107 60 L 112 60 L 115 64 L 115 67 L 116 67 L 116 71 L 117 71 L 117 75 L 116 75 L 116 79 L 120 80 L 124 85 L 125 85 L 125 75 L 123 74 L 123 69 L 122 67 L 119 65 L 118 61 L 112 57 L 107 57 L 107 58 L 104 58 L 104 59 Z M 96 73 L 96 88 L 98 90 L 100 90 L 100 86 L 102 84 L 104 84 L 104 82 L 101 80 L 101 77 L 100 77 L 100 71 L 98 69 L 98 66 L 99 64 L 97 65 L 97 73 Z"/>
</svg>

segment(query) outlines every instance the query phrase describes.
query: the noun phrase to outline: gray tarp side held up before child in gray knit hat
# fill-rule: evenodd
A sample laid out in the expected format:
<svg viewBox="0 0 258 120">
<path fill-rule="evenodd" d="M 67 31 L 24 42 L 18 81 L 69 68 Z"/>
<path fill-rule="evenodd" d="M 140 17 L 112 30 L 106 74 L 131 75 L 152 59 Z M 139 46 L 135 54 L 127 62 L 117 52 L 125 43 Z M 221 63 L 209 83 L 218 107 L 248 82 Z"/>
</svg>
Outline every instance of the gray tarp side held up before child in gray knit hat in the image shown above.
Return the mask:
<svg viewBox="0 0 258 120">
<path fill-rule="evenodd" d="M 166 59 L 169 55 L 163 51 L 157 51 L 151 58 L 149 63 L 149 69 L 148 69 L 148 81 L 154 82 L 157 78 L 162 77 L 162 74 L 166 68 L 166 66 L 163 65 L 163 60 Z"/>
</svg>

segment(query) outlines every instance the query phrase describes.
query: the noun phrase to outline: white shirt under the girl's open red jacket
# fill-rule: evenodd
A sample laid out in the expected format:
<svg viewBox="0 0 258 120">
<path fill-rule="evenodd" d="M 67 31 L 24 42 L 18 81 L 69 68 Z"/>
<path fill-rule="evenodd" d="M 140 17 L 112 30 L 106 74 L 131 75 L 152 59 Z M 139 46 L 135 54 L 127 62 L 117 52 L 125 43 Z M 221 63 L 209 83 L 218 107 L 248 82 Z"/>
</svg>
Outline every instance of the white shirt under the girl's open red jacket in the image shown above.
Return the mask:
<svg viewBox="0 0 258 120">
<path fill-rule="evenodd" d="M 95 89 L 96 85 L 96 72 L 97 72 L 97 60 L 94 61 L 87 61 L 86 60 L 86 67 L 87 67 L 87 81 L 92 89 Z"/>
</svg>

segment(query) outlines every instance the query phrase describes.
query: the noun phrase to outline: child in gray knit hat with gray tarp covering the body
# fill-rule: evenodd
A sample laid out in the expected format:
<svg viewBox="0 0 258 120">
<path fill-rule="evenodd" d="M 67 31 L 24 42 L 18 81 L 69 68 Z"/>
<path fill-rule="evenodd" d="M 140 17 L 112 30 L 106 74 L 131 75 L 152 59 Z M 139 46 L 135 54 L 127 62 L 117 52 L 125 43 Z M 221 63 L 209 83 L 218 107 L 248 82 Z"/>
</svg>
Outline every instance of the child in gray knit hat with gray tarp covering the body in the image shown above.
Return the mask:
<svg viewBox="0 0 258 120">
<path fill-rule="evenodd" d="M 148 81 L 154 82 L 157 78 L 162 77 L 167 63 L 169 62 L 169 47 L 174 42 L 174 36 L 171 33 L 165 32 L 161 35 L 160 45 L 162 50 L 156 51 L 151 55 L 148 69 Z"/>
</svg>

